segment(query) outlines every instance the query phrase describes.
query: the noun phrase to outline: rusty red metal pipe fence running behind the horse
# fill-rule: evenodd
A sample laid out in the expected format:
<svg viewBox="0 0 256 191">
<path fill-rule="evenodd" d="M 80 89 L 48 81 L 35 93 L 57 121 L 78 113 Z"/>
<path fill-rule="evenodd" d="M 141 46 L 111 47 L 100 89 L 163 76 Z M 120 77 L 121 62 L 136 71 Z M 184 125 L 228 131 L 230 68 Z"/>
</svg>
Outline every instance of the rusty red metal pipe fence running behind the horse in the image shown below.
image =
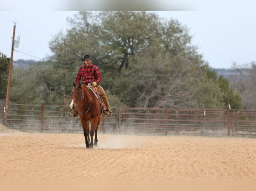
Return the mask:
<svg viewBox="0 0 256 191">
<path fill-rule="evenodd" d="M 111 108 L 99 132 L 256 137 L 256 110 Z M 82 132 L 66 105 L 0 103 L 0 123 L 27 132 Z"/>
</svg>

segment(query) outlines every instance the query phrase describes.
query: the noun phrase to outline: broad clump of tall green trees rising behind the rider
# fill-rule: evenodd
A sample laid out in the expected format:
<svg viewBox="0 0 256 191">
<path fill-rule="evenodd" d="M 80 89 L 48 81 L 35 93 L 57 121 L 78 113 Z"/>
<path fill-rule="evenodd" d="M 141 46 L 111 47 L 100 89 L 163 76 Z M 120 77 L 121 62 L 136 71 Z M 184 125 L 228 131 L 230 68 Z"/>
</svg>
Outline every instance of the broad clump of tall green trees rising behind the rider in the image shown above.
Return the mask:
<svg viewBox="0 0 256 191">
<path fill-rule="evenodd" d="M 101 70 L 101 85 L 118 104 L 153 107 L 165 95 L 184 94 L 163 107 L 223 107 L 224 93 L 216 79 L 208 78 L 207 63 L 177 20 L 146 11 L 80 11 L 68 22 L 66 34 L 60 31 L 49 43 L 52 56 L 28 69 L 31 79 L 39 79 L 33 91 L 40 97 L 31 95 L 31 101 L 66 104 L 80 58 L 90 54 Z"/>
</svg>

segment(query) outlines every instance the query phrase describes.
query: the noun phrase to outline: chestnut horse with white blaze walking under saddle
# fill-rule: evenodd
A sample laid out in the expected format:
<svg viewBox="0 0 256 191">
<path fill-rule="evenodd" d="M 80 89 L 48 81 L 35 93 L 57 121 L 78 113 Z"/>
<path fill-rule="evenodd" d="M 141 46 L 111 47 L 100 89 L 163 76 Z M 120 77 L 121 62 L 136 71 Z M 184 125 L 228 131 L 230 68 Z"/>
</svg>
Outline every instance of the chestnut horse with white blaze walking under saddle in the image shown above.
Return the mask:
<svg viewBox="0 0 256 191">
<path fill-rule="evenodd" d="M 84 130 L 86 148 L 93 148 L 93 144 L 95 144 L 95 146 L 98 144 L 97 130 L 102 116 L 101 104 L 97 96 L 86 86 L 82 86 L 81 83 L 76 85 L 73 82 L 73 87 L 70 114 L 73 117 L 79 114 L 80 122 Z M 89 121 L 91 121 L 91 130 L 89 128 Z M 89 133 L 91 135 L 91 141 Z M 93 143 L 94 133 L 95 139 Z"/>
</svg>

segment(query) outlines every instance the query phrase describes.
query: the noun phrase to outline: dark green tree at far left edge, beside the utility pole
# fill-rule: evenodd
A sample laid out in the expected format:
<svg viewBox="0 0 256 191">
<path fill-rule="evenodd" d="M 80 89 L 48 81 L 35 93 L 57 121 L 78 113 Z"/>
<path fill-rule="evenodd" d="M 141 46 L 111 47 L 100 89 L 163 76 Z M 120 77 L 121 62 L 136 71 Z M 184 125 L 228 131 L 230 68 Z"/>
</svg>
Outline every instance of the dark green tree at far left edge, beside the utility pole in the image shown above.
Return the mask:
<svg viewBox="0 0 256 191">
<path fill-rule="evenodd" d="M 0 52 L 0 99 L 6 98 L 8 73 L 9 73 L 9 59 Z"/>
</svg>

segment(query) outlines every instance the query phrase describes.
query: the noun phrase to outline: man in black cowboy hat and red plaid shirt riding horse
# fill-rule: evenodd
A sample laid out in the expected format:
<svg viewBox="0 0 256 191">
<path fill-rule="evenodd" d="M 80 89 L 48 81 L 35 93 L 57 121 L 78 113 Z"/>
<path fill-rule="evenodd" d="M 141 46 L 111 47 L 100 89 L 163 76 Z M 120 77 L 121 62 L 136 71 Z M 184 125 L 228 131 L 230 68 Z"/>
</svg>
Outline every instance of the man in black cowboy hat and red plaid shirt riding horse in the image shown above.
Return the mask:
<svg viewBox="0 0 256 191">
<path fill-rule="evenodd" d="M 92 59 L 90 55 L 85 55 L 84 58 L 81 58 L 84 61 L 84 65 L 81 66 L 77 72 L 77 76 L 75 79 L 75 84 L 79 85 L 80 79 L 82 78 L 82 86 L 88 86 L 88 83 L 91 83 L 94 87 L 97 87 L 98 92 L 100 93 L 104 103 L 104 115 L 109 115 L 112 111 L 110 108 L 110 104 L 106 95 L 106 92 L 101 87 L 101 73 L 99 68 L 96 65 L 92 64 Z"/>
</svg>

